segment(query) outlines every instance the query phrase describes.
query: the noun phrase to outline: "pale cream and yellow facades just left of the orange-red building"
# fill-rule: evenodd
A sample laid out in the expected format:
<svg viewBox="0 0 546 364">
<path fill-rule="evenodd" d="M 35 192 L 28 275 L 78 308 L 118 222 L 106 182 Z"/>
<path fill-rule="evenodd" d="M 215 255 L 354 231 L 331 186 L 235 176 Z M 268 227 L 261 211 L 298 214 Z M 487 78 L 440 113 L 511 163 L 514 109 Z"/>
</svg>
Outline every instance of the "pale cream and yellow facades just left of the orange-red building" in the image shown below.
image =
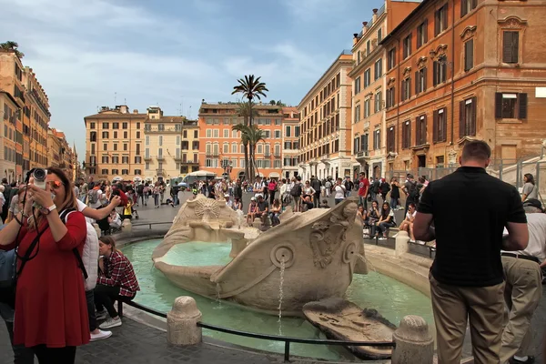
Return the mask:
<svg viewBox="0 0 546 364">
<path fill-rule="evenodd" d="M 149 106 L 144 135 L 147 181 L 159 177 L 168 181 L 198 169 L 197 122 L 185 116 L 164 116 L 160 107 Z"/>
</svg>

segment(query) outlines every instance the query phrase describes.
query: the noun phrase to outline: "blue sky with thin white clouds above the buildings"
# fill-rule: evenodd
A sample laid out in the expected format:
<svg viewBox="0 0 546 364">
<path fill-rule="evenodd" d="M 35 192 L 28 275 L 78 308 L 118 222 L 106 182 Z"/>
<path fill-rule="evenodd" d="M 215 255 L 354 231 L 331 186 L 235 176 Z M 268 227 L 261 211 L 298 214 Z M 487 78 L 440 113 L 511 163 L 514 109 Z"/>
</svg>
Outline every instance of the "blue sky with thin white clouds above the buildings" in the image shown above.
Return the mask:
<svg viewBox="0 0 546 364">
<path fill-rule="evenodd" d="M 238 101 L 261 76 L 297 106 L 380 0 L 0 0 L 0 42 L 25 53 L 49 97 L 50 126 L 84 160 L 84 117 L 100 106 L 197 118 L 201 100 Z"/>
</svg>

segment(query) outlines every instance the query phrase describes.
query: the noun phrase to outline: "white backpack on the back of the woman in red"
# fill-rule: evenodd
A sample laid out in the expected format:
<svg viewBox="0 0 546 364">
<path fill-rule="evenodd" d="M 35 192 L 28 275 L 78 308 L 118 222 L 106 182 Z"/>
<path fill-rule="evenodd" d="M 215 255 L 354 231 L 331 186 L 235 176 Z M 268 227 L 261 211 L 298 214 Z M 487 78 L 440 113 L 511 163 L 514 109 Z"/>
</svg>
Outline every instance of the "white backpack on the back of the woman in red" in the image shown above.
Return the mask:
<svg viewBox="0 0 546 364">
<path fill-rule="evenodd" d="M 62 211 L 59 214 L 59 217 L 64 224 L 68 221 L 68 215 L 76 212 L 74 208 L 68 208 Z M 97 267 L 96 261 L 98 260 L 98 236 L 96 235 L 96 230 L 93 225 L 86 221 L 87 227 L 87 236 L 86 242 L 84 243 L 84 250 L 80 256 L 79 251 L 76 248 L 72 249 L 80 269 L 82 269 L 82 274 L 84 276 L 84 286 L 86 291 L 95 288 L 96 286 L 96 276 L 97 276 Z"/>
</svg>

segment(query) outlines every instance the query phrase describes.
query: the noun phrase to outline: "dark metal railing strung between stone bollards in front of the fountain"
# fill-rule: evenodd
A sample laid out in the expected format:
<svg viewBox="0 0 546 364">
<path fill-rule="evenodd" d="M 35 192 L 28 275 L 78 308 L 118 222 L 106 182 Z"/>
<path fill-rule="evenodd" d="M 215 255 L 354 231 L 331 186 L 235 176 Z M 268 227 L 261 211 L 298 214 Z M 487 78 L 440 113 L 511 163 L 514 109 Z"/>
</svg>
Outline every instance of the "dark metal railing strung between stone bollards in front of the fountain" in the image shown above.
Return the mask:
<svg viewBox="0 0 546 364">
<path fill-rule="evenodd" d="M 133 301 L 129 301 L 129 302 L 118 301 L 117 302 L 117 314 L 119 315 L 120 318 L 123 317 L 124 303 L 128 306 L 140 309 L 149 314 L 158 316 L 163 319 L 167 319 L 167 314 L 163 312 L 159 312 L 153 308 L 147 308 L 146 306 L 139 305 L 138 303 Z M 358 347 L 376 347 L 376 348 L 387 348 L 387 347 L 394 348 L 396 346 L 396 343 L 393 341 L 349 341 L 349 340 L 329 340 L 329 339 L 303 339 L 303 338 L 284 337 L 284 336 L 278 336 L 278 335 L 257 334 L 254 332 L 241 331 L 237 329 L 227 329 L 221 326 L 209 325 L 204 322 L 197 322 L 197 326 L 202 329 L 210 329 L 210 330 L 214 330 L 218 332 L 225 332 L 227 334 L 242 336 L 246 338 L 283 341 L 285 343 L 285 350 L 284 350 L 285 362 L 290 361 L 290 343 L 310 344 L 310 345 L 343 345 L 343 346 L 349 346 L 349 347 L 358 346 Z"/>
</svg>

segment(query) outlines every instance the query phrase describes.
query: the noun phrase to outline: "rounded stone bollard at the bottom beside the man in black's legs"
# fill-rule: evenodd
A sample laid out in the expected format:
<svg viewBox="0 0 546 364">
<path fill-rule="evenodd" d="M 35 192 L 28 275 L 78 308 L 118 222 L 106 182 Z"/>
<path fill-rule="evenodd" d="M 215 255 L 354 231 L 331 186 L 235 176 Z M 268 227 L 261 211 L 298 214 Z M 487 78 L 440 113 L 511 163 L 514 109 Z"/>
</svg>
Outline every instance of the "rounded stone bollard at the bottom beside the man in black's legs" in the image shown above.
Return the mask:
<svg viewBox="0 0 546 364">
<path fill-rule="evenodd" d="M 392 340 L 396 344 L 392 350 L 392 364 L 432 364 L 434 339 L 425 319 L 415 315 L 404 317 L 392 334 Z"/>
</svg>

